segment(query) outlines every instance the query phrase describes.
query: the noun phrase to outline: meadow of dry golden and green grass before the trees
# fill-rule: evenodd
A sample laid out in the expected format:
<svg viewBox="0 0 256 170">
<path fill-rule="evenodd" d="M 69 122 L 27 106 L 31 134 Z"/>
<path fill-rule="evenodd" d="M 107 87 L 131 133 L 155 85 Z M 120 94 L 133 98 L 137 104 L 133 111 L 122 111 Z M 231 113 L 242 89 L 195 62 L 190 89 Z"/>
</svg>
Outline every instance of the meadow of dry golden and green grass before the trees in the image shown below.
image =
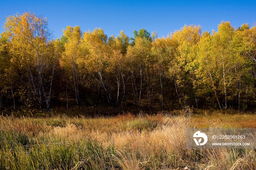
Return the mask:
<svg viewBox="0 0 256 170">
<path fill-rule="evenodd" d="M 187 150 L 185 128 L 256 128 L 251 112 L 0 116 L 0 169 L 244 170 L 256 150 Z"/>
</svg>

